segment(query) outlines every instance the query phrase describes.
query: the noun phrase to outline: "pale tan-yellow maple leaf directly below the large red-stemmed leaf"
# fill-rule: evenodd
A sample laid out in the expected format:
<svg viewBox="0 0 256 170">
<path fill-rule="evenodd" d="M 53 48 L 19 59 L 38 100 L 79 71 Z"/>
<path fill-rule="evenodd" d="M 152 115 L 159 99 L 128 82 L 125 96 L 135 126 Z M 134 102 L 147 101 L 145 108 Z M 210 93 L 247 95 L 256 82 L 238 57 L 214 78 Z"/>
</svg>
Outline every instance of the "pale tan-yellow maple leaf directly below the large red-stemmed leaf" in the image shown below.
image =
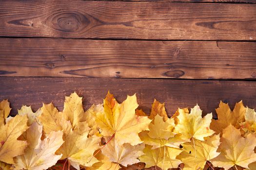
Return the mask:
<svg viewBox="0 0 256 170">
<path fill-rule="evenodd" d="M 139 160 L 137 158 L 144 154 L 143 149 L 145 144 L 132 146 L 129 143 L 124 143 L 119 145 L 115 138 L 113 140 L 109 139 L 110 138 L 106 138 L 109 142 L 101 149 L 101 151 L 102 154 L 107 156 L 112 162 L 127 167 L 127 165 L 138 163 Z"/>
</svg>

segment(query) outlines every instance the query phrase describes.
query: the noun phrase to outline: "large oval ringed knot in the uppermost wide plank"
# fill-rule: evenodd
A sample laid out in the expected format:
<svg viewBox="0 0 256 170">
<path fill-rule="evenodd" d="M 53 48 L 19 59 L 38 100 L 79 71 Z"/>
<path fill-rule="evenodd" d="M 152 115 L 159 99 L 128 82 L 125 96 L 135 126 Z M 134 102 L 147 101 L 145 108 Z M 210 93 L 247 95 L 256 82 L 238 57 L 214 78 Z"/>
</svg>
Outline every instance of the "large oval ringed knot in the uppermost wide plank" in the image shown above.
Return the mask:
<svg viewBox="0 0 256 170">
<path fill-rule="evenodd" d="M 89 24 L 86 17 L 78 12 L 62 12 L 51 20 L 53 28 L 63 32 L 78 32 L 82 24 Z"/>
</svg>

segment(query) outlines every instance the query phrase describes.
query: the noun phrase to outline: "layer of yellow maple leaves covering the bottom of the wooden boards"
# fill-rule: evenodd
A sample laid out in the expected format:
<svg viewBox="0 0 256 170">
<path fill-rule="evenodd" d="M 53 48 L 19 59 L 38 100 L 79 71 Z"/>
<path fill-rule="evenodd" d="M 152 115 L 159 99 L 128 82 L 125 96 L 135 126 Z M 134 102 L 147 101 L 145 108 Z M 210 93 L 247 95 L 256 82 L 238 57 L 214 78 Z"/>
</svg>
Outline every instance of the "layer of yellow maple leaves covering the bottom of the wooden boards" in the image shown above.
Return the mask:
<svg viewBox="0 0 256 170">
<path fill-rule="evenodd" d="M 171 118 L 156 100 L 149 116 L 137 107 L 136 95 L 119 104 L 108 93 L 84 112 L 73 93 L 62 112 L 50 103 L 10 117 L 4 100 L 0 169 L 256 170 L 256 112 L 242 102 L 233 111 L 220 102 L 217 120 L 198 105 Z"/>
</svg>

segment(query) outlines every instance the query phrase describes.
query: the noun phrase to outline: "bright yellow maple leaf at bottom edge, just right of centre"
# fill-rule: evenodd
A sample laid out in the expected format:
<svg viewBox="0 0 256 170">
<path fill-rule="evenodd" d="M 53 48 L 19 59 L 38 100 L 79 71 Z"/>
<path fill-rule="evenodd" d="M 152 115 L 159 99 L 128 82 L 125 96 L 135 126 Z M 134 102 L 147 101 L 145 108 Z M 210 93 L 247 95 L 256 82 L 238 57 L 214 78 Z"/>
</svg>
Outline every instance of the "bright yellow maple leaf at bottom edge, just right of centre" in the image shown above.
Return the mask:
<svg viewBox="0 0 256 170">
<path fill-rule="evenodd" d="M 152 149 L 152 146 L 145 145 L 143 152 L 145 154 L 140 156 L 139 160 L 146 164 L 145 168 L 158 166 L 163 170 L 168 170 L 169 168 L 177 168 L 181 163 L 180 160 L 176 159 L 177 155 L 182 152 L 179 148 L 163 146 Z"/>
</svg>

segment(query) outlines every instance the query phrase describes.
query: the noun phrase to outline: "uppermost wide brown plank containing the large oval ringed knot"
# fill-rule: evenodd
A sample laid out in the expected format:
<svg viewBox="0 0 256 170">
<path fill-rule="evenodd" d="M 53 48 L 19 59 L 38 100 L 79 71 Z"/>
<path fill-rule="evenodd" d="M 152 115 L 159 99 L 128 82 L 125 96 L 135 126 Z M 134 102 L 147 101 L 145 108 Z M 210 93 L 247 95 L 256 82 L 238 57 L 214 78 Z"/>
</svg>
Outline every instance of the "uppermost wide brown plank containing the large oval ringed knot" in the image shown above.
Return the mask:
<svg viewBox="0 0 256 170">
<path fill-rule="evenodd" d="M 2 1 L 0 36 L 256 40 L 256 4 Z"/>
</svg>

